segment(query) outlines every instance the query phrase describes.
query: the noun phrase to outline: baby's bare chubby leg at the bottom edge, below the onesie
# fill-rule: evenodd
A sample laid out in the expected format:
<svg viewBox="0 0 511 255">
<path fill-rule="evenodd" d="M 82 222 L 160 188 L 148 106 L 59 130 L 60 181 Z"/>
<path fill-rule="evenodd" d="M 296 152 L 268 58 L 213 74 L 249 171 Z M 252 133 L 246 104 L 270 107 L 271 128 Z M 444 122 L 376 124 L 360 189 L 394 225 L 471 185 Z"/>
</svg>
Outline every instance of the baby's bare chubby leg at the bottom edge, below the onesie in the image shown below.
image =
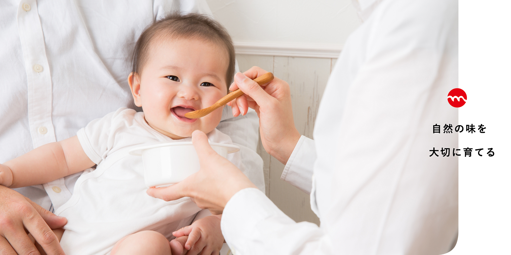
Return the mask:
<svg viewBox="0 0 511 255">
<path fill-rule="evenodd" d="M 119 240 L 113 248 L 111 255 L 124 254 L 150 254 L 170 255 L 170 244 L 164 235 L 152 230 L 140 231 Z"/>
</svg>

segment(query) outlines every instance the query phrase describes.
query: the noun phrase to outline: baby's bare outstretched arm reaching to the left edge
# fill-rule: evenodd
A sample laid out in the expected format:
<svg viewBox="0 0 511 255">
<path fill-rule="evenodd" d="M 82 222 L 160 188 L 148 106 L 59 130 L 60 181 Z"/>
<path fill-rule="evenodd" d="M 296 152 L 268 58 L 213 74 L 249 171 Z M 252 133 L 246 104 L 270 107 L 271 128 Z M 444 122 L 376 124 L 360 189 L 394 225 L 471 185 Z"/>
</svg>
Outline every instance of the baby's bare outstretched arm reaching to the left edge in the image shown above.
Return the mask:
<svg viewBox="0 0 511 255">
<path fill-rule="evenodd" d="M 94 165 L 75 135 L 0 164 L 0 184 L 13 189 L 47 183 Z"/>
</svg>

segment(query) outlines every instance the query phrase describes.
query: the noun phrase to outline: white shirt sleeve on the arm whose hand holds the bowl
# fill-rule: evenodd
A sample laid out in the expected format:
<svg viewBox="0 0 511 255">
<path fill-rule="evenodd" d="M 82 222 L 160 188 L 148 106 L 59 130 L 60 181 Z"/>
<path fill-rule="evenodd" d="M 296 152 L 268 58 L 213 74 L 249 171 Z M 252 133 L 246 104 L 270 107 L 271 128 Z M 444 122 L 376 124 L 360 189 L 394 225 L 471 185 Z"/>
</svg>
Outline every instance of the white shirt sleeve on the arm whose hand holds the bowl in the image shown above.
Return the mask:
<svg viewBox="0 0 511 255">
<path fill-rule="evenodd" d="M 315 254 L 330 252 L 330 239 L 314 223 L 296 223 L 254 188 L 237 192 L 225 205 L 220 223 L 233 254 Z M 271 249 L 271 250 L 269 250 Z"/>
</svg>

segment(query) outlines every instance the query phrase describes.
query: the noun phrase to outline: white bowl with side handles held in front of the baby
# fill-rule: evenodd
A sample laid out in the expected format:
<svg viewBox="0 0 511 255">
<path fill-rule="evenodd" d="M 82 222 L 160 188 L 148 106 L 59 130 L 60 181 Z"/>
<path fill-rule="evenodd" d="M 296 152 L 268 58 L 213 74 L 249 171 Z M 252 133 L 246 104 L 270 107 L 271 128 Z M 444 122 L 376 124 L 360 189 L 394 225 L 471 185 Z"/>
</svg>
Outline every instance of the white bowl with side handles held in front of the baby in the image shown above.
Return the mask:
<svg viewBox="0 0 511 255">
<path fill-rule="evenodd" d="M 210 143 L 222 157 L 240 150 L 239 146 Z M 192 142 L 153 144 L 133 148 L 129 154 L 142 156 L 146 186 L 165 187 L 182 181 L 200 169 L 199 157 Z"/>
</svg>

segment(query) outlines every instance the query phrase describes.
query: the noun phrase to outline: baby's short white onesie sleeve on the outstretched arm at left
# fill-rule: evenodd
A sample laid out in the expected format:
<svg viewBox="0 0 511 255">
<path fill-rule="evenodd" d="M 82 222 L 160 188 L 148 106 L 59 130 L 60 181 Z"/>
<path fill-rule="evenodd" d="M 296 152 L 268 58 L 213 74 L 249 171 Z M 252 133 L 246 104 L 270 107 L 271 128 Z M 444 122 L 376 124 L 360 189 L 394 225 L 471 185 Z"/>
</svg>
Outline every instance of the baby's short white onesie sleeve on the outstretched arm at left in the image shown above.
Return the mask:
<svg viewBox="0 0 511 255">
<path fill-rule="evenodd" d="M 136 113 L 133 109 L 121 107 L 110 112 L 105 117 L 93 120 L 84 128 L 78 130 L 77 136 L 85 154 L 92 162 L 99 164 L 106 158 L 108 151 L 112 148 L 115 133 L 122 131 L 123 119 L 133 119 Z"/>
</svg>

